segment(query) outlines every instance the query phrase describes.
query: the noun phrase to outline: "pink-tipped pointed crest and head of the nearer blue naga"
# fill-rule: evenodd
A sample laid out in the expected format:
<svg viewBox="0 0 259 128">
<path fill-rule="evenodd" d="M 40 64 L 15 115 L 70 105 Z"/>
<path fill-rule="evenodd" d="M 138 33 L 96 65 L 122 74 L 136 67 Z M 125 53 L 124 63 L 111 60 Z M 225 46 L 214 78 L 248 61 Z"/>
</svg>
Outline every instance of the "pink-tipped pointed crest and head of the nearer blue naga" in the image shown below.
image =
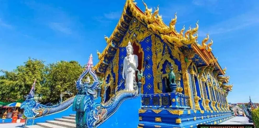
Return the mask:
<svg viewBox="0 0 259 128">
<path fill-rule="evenodd" d="M 85 66 L 85 69 L 83 73 L 80 75 L 78 80 L 76 81 L 76 89 L 78 90 L 78 94 L 82 95 L 97 95 L 97 88 L 99 85 L 99 80 L 97 75 L 92 69 L 93 67 L 93 56 L 92 54 L 89 57 L 87 66 Z M 93 78 L 93 83 L 90 84 L 90 78 L 89 76 L 86 76 L 89 73 L 89 75 Z M 84 82 L 82 82 L 84 77 L 87 77 Z"/>
</svg>

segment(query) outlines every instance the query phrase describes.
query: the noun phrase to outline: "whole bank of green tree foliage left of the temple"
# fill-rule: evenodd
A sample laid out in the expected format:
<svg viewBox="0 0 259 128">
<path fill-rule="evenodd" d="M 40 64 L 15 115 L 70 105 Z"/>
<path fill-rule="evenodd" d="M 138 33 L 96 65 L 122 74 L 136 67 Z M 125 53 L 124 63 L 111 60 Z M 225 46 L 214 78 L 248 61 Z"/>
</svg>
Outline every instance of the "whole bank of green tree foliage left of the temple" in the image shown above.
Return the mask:
<svg viewBox="0 0 259 128">
<path fill-rule="evenodd" d="M 35 96 L 42 95 L 42 102 L 56 103 L 60 94 L 70 91 L 77 93 L 75 80 L 83 68 L 76 61 L 59 61 L 44 65 L 44 61 L 29 58 L 24 65 L 13 71 L 4 71 L 0 76 L 0 101 L 25 100 L 33 81 L 36 79 Z"/>
</svg>

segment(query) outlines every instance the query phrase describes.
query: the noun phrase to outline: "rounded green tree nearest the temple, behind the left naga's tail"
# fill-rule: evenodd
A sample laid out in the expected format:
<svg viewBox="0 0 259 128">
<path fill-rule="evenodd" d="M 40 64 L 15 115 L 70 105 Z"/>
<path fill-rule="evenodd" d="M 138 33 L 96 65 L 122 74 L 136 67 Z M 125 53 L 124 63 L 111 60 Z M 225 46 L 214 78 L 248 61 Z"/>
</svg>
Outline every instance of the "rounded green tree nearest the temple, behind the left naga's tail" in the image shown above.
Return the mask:
<svg viewBox="0 0 259 128">
<path fill-rule="evenodd" d="M 46 71 L 46 80 L 41 88 L 43 102 L 57 103 L 60 94 L 65 91 L 70 91 L 74 95 L 77 93 L 75 81 L 83 71 L 78 62 L 59 61 L 51 63 Z"/>
</svg>

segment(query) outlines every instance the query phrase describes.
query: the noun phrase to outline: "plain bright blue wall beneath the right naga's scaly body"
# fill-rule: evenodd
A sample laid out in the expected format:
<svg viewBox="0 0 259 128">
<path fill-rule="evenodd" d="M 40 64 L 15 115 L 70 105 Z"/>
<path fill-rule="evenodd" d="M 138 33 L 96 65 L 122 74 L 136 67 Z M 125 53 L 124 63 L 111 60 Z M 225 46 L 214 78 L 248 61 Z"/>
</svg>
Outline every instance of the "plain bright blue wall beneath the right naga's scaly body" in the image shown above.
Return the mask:
<svg viewBox="0 0 259 128">
<path fill-rule="evenodd" d="M 141 105 L 141 97 L 134 97 L 122 101 L 119 108 L 98 128 L 136 128 L 138 126 L 138 109 Z"/>
</svg>

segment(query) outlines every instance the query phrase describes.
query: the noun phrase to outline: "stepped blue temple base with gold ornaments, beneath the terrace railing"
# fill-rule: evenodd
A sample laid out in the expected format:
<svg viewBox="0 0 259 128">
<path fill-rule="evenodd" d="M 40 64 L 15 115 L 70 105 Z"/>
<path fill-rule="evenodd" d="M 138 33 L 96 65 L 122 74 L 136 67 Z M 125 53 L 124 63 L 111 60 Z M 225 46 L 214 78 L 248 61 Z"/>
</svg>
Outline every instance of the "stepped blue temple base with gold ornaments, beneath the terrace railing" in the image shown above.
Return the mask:
<svg viewBox="0 0 259 128">
<path fill-rule="evenodd" d="M 230 111 L 139 109 L 138 128 L 195 128 L 199 124 L 219 124 L 233 117 Z"/>
</svg>

